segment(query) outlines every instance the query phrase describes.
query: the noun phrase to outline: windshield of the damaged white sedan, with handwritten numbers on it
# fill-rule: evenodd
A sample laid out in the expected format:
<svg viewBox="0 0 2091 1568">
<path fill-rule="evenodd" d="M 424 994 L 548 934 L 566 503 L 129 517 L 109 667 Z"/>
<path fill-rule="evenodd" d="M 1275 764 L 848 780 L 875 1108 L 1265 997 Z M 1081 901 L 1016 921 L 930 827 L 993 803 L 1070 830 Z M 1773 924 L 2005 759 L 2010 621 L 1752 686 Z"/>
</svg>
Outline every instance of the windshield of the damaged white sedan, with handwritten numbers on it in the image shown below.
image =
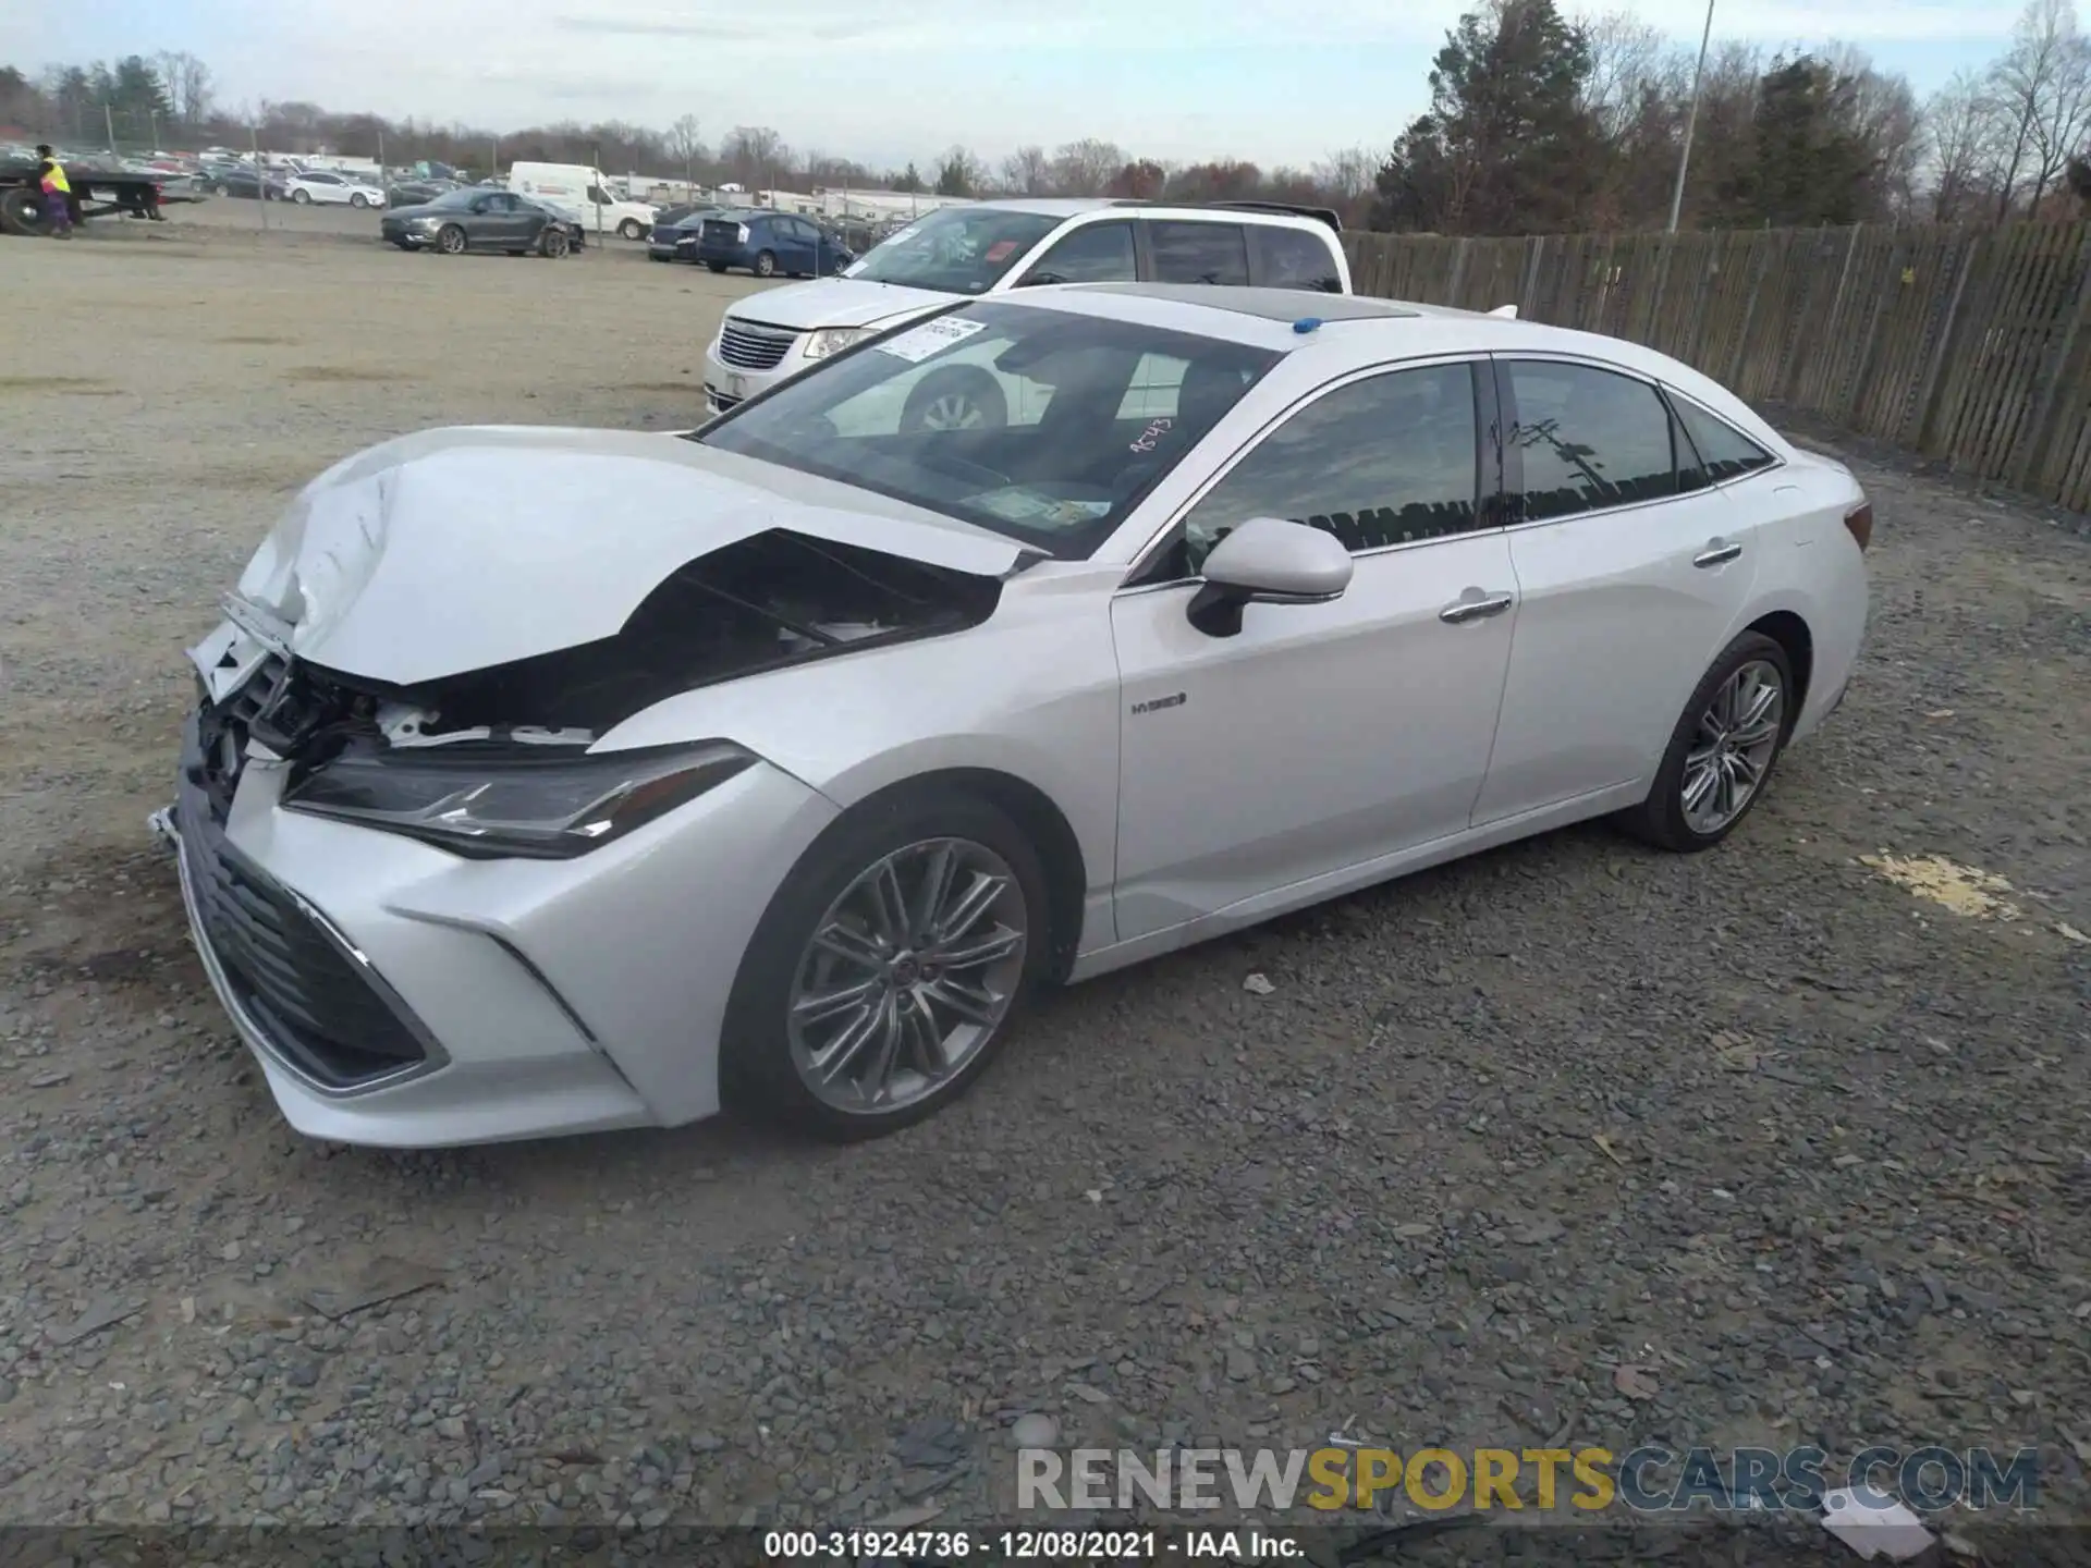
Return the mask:
<svg viewBox="0 0 2091 1568">
<path fill-rule="evenodd" d="M 849 349 L 688 439 L 1085 560 L 1276 360 L 983 301 Z"/>
</svg>

